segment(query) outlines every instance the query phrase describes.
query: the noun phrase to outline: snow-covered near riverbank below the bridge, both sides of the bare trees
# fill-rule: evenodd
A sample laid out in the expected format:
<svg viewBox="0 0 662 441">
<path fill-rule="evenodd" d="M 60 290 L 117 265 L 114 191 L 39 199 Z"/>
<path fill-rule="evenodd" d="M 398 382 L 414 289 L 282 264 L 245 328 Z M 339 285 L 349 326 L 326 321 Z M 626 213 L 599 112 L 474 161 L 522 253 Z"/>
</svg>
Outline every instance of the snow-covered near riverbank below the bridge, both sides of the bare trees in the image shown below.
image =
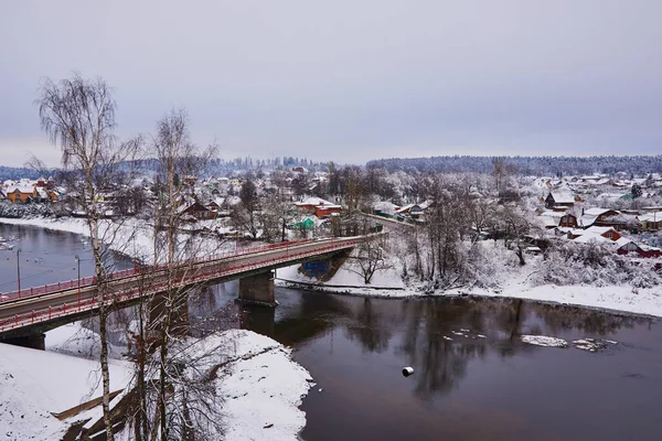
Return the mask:
<svg viewBox="0 0 662 441">
<path fill-rule="evenodd" d="M 46 347 L 35 351 L 0 344 L 0 433 L 10 440 L 58 440 L 72 421 L 60 421 L 61 412 L 100 396 L 98 363 L 84 358 L 94 354 L 95 334 L 77 324 L 46 334 Z M 232 343 L 227 353 L 213 359 L 231 362 L 216 379 L 223 398 L 223 422 L 227 440 L 293 440 L 306 426 L 299 410 L 313 385 L 310 374 L 291 359 L 291 351 L 250 331 L 231 330 L 195 344 L 195 349 Z M 76 356 L 66 355 L 75 354 Z M 128 362 L 110 362 L 111 390 L 131 381 Z M 81 419 L 83 416 L 78 416 Z M 100 417 L 99 409 L 85 413 Z"/>
</svg>

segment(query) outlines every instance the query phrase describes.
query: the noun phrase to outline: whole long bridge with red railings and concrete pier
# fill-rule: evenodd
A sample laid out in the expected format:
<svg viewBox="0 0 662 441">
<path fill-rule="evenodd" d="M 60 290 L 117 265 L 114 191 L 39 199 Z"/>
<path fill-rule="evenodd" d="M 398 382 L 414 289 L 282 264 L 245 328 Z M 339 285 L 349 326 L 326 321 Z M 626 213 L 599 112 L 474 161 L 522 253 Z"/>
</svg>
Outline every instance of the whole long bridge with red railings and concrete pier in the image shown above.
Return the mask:
<svg viewBox="0 0 662 441">
<path fill-rule="evenodd" d="M 200 283 L 239 279 L 239 300 L 276 305 L 273 271 L 348 250 L 364 238 L 286 241 L 188 260 L 169 277 L 168 267 L 139 267 L 108 275 L 106 305 L 130 305 L 143 298 Z M 149 280 L 149 283 L 146 283 Z M 0 341 L 43 345 L 43 333 L 89 316 L 102 305 L 95 277 L 61 281 L 0 294 Z M 38 338 L 31 342 L 30 338 Z M 39 340 L 41 338 L 41 343 Z"/>
</svg>

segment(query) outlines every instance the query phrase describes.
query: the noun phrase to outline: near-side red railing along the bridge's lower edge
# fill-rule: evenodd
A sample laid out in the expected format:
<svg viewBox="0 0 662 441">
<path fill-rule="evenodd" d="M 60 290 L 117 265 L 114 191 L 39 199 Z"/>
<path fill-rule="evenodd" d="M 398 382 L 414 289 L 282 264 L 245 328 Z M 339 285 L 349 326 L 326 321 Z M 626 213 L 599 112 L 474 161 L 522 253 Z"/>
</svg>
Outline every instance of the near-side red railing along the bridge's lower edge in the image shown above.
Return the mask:
<svg viewBox="0 0 662 441">
<path fill-rule="evenodd" d="M 196 271 L 196 272 L 193 272 L 192 275 L 182 277 L 182 278 L 175 280 L 174 282 L 167 281 L 166 283 L 154 283 L 150 287 L 149 292 L 145 292 L 145 290 L 140 287 L 130 287 L 129 290 L 119 290 L 118 292 L 115 292 L 113 295 L 110 295 L 106 300 L 106 303 L 110 304 L 113 302 L 122 302 L 122 303 L 129 302 L 139 297 L 146 297 L 146 295 L 150 295 L 154 292 L 159 292 L 160 290 L 163 290 L 163 288 L 167 288 L 169 283 L 170 283 L 170 287 L 172 287 L 172 286 L 177 287 L 177 286 L 188 286 L 188 284 L 192 284 L 195 282 L 206 281 L 206 280 L 220 279 L 223 277 L 246 272 L 246 271 L 249 271 L 253 269 L 269 267 L 269 266 L 274 266 L 274 265 L 277 265 L 280 262 L 285 262 L 285 261 L 290 261 L 290 260 L 298 259 L 298 258 L 324 254 L 324 252 L 333 251 L 337 249 L 343 249 L 343 248 L 346 248 L 350 246 L 357 245 L 359 243 L 361 243 L 360 239 L 349 239 L 349 240 L 344 239 L 341 241 L 331 241 L 331 243 L 328 243 L 328 245 L 324 245 L 323 247 L 317 247 L 312 250 L 288 254 L 286 256 L 281 256 L 281 257 L 277 257 L 277 258 L 266 258 L 266 259 L 253 261 L 249 263 L 224 266 L 221 262 L 218 262 L 218 265 L 221 267 L 217 269 L 211 268 L 211 269 L 206 269 L 205 271 Z M 127 271 L 134 271 L 134 270 L 124 270 L 124 271 L 127 272 Z M 118 272 L 121 273 L 122 271 L 118 271 Z M 117 278 L 119 279 L 121 277 L 117 277 Z M 89 278 L 89 279 L 92 279 L 92 278 Z M 63 304 L 56 305 L 56 306 L 51 305 L 49 308 L 33 310 L 31 312 L 23 313 L 23 314 L 14 314 L 11 318 L 0 320 L 0 333 L 10 331 L 13 329 L 18 329 L 18 327 L 28 326 L 28 325 L 35 324 L 35 323 L 46 322 L 46 321 L 66 316 L 66 315 L 72 315 L 72 314 L 77 314 L 81 312 L 96 310 L 99 308 L 100 301 L 102 300 L 99 298 L 93 297 L 93 298 L 81 299 L 78 297 L 77 301 L 73 302 L 73 303 L 63 303 Z"/>
</svg>

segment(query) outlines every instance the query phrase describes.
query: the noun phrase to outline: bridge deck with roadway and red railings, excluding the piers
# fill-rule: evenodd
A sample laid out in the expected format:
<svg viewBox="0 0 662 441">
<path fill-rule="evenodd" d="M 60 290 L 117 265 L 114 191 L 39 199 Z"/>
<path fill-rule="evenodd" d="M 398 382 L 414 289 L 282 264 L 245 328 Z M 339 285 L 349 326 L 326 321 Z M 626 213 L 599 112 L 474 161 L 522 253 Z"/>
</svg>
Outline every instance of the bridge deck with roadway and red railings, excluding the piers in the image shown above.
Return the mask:
<svg viewBox="0 0 662 441">
<path fill-rule="evenodd" d="M 169 288 L 241 278 L 242 275 L 349 249 L 362 240 L 362 237 L 302 240 L 249 248 L 248 251 L 229 251 L 178 266 L 173 271 L 174 278 L 168 277 L 164 266 L 117 271 L 108 277 L 106 303 L 125 304 Z M 78 280 L 70 280 L 3 294 L 0 299 L 0 336 L 21 327 L 95 311 L 99 302 L 94 278 L 82 279 L 79 287 Z"/>
</svg>

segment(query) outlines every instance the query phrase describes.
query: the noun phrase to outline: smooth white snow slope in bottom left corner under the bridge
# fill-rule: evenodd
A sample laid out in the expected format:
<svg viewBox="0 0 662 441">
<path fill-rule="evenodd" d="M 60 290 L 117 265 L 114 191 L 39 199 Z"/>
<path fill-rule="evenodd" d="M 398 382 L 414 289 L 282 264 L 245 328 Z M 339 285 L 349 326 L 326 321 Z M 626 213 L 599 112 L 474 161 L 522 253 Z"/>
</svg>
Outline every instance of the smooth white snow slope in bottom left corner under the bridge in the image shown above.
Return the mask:
<svg viewBox="0 0 662 441">
<path fill-rule="evenodd" d="M 130 366 L 110 362 L 110 388 L 122 388 Z M 0 438 L 57 440 L 67 424 L 61 412 L 102 395 L 97 362 L 0 344 Z"/>
</svg>

